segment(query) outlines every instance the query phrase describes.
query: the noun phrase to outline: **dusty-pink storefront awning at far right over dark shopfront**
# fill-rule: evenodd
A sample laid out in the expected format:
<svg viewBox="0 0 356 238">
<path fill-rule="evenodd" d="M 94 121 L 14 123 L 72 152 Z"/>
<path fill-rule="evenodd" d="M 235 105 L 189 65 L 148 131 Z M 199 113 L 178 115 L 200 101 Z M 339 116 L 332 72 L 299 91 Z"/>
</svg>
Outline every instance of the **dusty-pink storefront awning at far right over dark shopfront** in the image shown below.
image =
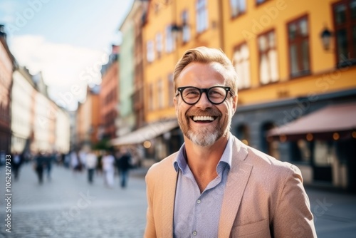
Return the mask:
<svg viewBox="0 0 356 238">
<path fill-rule="evenodd" d="M 268 138 L 338 140 L 356 137 L 356 103 L 329 105 L 268 131 Z"/>
</svg>

